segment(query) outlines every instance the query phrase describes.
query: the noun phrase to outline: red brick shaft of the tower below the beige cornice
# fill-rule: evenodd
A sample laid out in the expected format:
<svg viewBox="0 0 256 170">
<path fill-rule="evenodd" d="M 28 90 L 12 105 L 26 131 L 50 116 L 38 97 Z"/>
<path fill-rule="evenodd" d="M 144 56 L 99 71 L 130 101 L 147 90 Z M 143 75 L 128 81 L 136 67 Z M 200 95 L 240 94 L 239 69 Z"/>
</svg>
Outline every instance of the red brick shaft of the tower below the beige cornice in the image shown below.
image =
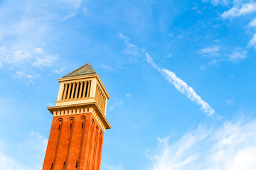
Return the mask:
<svg viewBox="0 0 256 170">
<path fill-rule="evenodd" d="M 53 117 L 43 170 L 100 170 L 103 135 L 92 113 Z"/>
</svg>

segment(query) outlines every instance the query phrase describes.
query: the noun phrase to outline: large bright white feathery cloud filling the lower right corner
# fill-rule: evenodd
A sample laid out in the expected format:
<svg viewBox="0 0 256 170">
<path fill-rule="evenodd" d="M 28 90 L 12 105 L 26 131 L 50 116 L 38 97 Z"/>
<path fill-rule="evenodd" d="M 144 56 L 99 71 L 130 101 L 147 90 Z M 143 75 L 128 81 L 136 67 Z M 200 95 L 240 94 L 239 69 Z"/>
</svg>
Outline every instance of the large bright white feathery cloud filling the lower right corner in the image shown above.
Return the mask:
<svg viewBox="0 0 256 170">
<path fill-rule="evenodd" d="M 227 122 L 215 130 L 199 126 L 171 144 L 169 137 L 159 139 L 146 154 L 152 170 L 255 170 L 256 121 Z"/>
</svg>

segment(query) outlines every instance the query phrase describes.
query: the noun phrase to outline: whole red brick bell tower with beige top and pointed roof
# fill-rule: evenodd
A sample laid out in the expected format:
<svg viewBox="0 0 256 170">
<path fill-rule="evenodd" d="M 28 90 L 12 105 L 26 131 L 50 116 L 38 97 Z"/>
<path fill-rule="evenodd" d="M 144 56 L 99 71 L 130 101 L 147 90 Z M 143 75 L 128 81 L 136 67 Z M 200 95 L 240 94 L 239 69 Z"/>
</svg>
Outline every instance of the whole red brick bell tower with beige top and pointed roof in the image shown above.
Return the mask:
<svg viewBox="0 0 256 170">
<path fill-rule="evenodd" d="M 100 170 L 107 99 L 110 98 L 90 63 L 60 82 L 43 170 Z"/>
</svg>

